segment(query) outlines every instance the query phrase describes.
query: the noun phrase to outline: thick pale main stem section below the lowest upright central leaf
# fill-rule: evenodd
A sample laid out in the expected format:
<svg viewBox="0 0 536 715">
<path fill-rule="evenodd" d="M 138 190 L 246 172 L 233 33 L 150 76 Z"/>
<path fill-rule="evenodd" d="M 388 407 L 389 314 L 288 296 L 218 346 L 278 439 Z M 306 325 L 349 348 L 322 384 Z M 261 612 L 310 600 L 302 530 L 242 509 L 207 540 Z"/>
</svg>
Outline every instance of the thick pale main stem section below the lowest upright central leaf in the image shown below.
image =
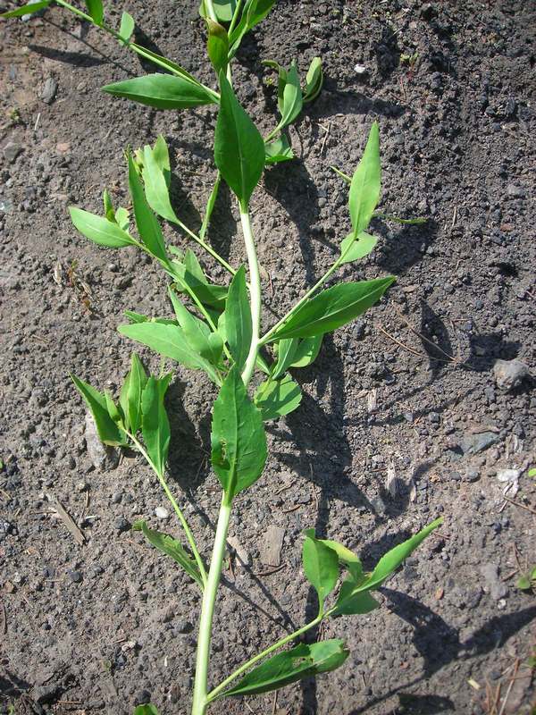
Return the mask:
<svg viewBox="0 0 536 715">
<path fill-rule="evenodd" d="M 191 715 L 205 715 L 208 685 L 208 661 L 210 658 L 210 642 L 212 637 L 212 626 L 214 618 L 214 604 L 216 593 L 222 575 L 223 555 L 225 553 L 225 543 L 227 541 L 227 531 L 229 529 L 231 502 L 225 493 L 222 496 L 222 506 L 218 517 L 218 526 L 214 537 L 214 550 L 208 570 L 205 591 L 203 592 L 203 602 L 201 605 L 201 617 L 199 618 L 199 634 L 197 636 L 197 659 L 196 659 L 196 682 L 194 685 L 194 700 L 192 703 Z"/>
</svg>

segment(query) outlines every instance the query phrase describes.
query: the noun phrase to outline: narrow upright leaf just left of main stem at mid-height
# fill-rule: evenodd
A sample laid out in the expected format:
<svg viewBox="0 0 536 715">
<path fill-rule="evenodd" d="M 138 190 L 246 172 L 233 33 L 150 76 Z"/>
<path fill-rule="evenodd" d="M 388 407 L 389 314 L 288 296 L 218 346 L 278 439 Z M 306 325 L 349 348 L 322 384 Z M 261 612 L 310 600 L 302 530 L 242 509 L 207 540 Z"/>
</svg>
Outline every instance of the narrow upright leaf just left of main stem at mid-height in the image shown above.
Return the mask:
<svg viewBox="0 0 536 715">
<path fill-rule="evenodd" d="M 246 365 L 253 335 L 251 307 L 247 298 L 246 269 L 240 265 L 230 282 L 225 304 L 225 332 L 230 354 L 241 371 Z"/>
</svg>

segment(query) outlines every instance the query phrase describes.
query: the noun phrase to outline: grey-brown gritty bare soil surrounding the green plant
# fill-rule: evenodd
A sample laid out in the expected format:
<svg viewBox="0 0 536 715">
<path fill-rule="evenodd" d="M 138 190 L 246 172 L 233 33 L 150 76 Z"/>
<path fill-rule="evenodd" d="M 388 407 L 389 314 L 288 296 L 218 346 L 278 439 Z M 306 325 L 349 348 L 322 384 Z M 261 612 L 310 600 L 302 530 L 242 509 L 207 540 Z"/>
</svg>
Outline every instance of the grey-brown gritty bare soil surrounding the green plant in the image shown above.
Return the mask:
<svg viewBox="0 0 536 715">
<path fill-rule="evenodd" d="M 107 5 L 119 24 L 121 4 Z M 215 87 L 197 5 L 124 9 L 139 42 Z M 264 133 L 277 106 L 261 60 L 296 59 L 303 75 L 320 55 L 325 70 L 289 130 L 297 158 L 268 169 L 253 198 L 266 327 L 338 255 L 348 188 L 330 167 L 354 171 L 374 120 L 382 211 L 427 223 L 373 221 L 377 248 L 337 279 L 398 282 L 295 371 L 302 404 L 268 426 L 264 475 L 233 512 L 214 685 L 314 618 L 303 529 L 370 568 L 432 518 L 445 524 L 381 589 L 381 609 L 308 634 L 344 637 L 342 668 L 214 715 L 533 712 L 536 598 L 516 581 L 536 561 L 535 27 L 522 0 L 280 0 L 239 51 L 237 92 Z M 99 451 L 69 378 L 116 393 L 134 349 L 116 332 L 122 311 L 170 315 L 166 282 L 134 249 L 90 244 L 67 208 L 100 213 L 105 187 L 128 200 L 125 147 L 162 133 L 174 206 L 198 229 L 216 107 L 159 112 L 103 94 L 152 68 L 58 7 L 1 21 L 0 63 L 0 712 L 131 715 L 150 700 L 186 714 L 197 587 L 130 525 L 179 529 L 141 458 Z M 238 218 L 222 190 L 209 238 L 233 265 L 245 259 Z M 220 501 L 214 396 L 177 369 L 169 478 L 206 555 Z"/>
</svg>

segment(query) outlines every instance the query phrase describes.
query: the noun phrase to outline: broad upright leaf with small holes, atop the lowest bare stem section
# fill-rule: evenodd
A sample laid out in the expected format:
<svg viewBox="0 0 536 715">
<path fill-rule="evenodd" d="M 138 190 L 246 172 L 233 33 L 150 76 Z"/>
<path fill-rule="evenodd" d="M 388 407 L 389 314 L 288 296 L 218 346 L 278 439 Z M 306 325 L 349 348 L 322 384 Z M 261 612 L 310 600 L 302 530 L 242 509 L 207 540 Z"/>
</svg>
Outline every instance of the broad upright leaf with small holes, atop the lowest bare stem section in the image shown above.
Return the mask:
<svg viewBox="0 0 536 715">
<path fill-rule="evenodd" d="M 266 462 L 266 434 L 260 411 L 249 400 L 236 366 L 214 402 L 212 465 L 229 499 L 254 484 Z"/>
</svg>

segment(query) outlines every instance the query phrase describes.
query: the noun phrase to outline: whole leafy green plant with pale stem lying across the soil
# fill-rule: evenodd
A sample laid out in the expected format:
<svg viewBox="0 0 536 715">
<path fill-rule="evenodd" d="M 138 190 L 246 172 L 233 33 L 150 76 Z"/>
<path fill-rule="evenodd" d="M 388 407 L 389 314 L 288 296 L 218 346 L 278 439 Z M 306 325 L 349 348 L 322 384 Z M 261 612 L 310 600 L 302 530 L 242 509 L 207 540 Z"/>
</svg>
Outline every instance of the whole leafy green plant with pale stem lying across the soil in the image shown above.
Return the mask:
<svg viewBox="0 0 536 715">
<path fill-rule="evenodd" d="M 136 354 L 118 397 L 100 392 L 80 378 L 72 380 L 96 423 L 105 444 L 138 450 L 155 472 L 182 527 L 188 548 L 169 534 L 158 532 L 146 521 L 133 528 L 147 541 L 183 568 L 202 592 L 197 639 L 197 666 L 192 715 L 204 715 L 208 706 L 224 697 L 258 694 L 286 686 L 303 677 L 339 668 L 348 658 L 342 640 L 314 644 L 299 643 L 281 649 L 326 618 L 364 614 L 378 608 L 373 592 L 401 565 L 423 539 L 440 525 L 437 519 L 383 556 L 370 573 L 348 548 L 329 539 L 318 538 L 314 530 L 304 533 L 303 568 L 318 596 L 317 616 L 296 632 L 247 660 L 222 683 L 209 689 L 208 668 L 214 604 L 222 573 L 230 513 L 235 497 L 259 479 L 267 458 L 264 422 L 287 415 L 299 406 L 301 391 L 289 369 L 310 365 L 317 356 L 322 337 L 362 315 L 381 299 L 394 282 L 386 276 L 362 282 L 342 282 L 324 288 L 341 265 L 367 256 L 376 239 L 368 233 L 381 196 L 380 139 L 373 123 L 364 154 L 349 181 L 351 231 L 341 242 L 339 256 L 306 294 L 281 320 L 263 330 L 262 285 L 250 221 L 250 199 L 267 165 L 292 158 L 283 130 L 294 122 L 304 102 L 312 101 L 322 88 L 322 64 L 315 58 L 302 88 L 293 63 L 287 70 L 279 63 L 269 66 L 278 72 L 280 119 L 263 139 L 247 115 L 232 87 L 231 63 L 245 34 L 262 21 L 275 0 L 204 0 L 200 12 L 205 17 L 207 52 L 218 79 L 219 92 L 198 82 L 176 63 L 153 55 L 130 41 L 134 21 L 123 13 L 119 31 L 104 21 L 100 0 L 87 0 L 88 14 L 56 0 L 72 12 L 105 29 L 170 73 L 146 75 L 105 87 L 109 94 L 129 97 L 160 109 L 218 105 L 214 136 L 214 163 L 218 170 L 214 189 L 205 210 L 201 229 L 195 233 L 177 216 L 170 200 L 170 159 L 163 137 L 154 147 L 127 152 L 128 182 L 133 216 L 127 208 L 113 206 L 105 190 L 103 215 L 71 207 L 71 219 L 89 240 L 106 248 L 133 246 L 152 257 L 168 276 L 168 296 L 173 317 L 148 317 L 128 311 L 128 323 L 119 332 L 163 358 L 208 375 L 218 391 L 212 421 L 211 462 L 222 485 L 222 504 L 209 562 L 197 548 L 195 535 L 167 484 L 165 469 L 171 440 L 165 395 L 172 373 L 147 374 Z M 26 6 L 30 12 L 49 2 Z M 22 14 L 21 9 L 10 16 Z M 235 195 L 247 252 L 246 266 L 230 266 L 206 241 L 220 182 L 225 181 Z M 158 217 L 174 223 L 195 240 L 231 276 L 228 286 L 207 278 L 195 253 L 181 252 L 164 239 Z M 138 236 L 131 232 L 134 224 Z M 248 280 L 247 280 L 248 279 Z M 253 389 L 252 380 L 263 374 Z M 258 381 L 257 381 L 258 382 Z M 250 393 L 250 390 L 252 391 Z M 273 654 L 280 651 L 277 654 Z M 155 715 L 154 705 L 142 705 L 136 715 Z"/>
</svg>

